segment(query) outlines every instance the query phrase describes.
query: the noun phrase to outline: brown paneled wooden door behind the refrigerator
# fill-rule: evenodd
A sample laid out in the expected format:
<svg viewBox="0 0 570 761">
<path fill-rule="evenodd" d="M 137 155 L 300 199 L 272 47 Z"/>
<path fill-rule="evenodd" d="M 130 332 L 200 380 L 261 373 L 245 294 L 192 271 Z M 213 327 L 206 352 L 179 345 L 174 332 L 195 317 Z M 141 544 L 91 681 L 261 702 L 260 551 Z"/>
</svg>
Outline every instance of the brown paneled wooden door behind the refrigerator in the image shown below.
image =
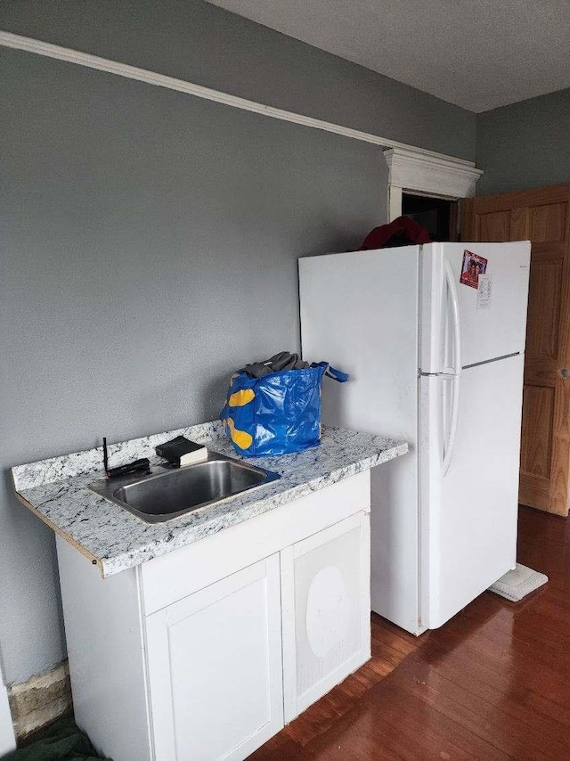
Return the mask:
<svg viewBox="0 0 570 761">
<path fill-rule="evenodd" d="M 532 242 L 519 502 L 568 514 L 570 185 L 466 199 L 463 241 Z"/>
</svg>

